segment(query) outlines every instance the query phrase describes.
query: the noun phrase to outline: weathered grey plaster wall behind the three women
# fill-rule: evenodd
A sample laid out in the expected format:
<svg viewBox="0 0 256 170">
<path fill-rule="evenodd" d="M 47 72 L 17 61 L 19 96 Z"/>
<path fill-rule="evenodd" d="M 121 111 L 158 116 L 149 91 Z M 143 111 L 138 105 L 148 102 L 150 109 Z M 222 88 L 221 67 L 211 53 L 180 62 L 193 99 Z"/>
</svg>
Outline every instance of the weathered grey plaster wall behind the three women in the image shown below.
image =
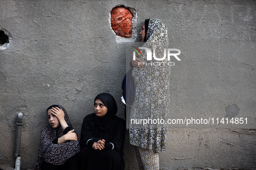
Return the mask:
<svg viewBox="0 0 256 170">
<path fill-rule="evenodd" d="M 119 4 L 136 10 L 138 30 L 147 18 L 162 19 L 171 42 L 249 42 L 241 56 L 217 57 L 207 54 L 207 49 L 198 56 L 183 54 L 171 70 L 170 115 L 184 118 L 198 109 L 224 117 L 225 108 L 237 104 L 240 114 L 255 120 L 255 50 L 246 55 L 256 42 L 254 0 L 1 0 L 0 28 L 9 31 L 13 40 L 0 50 L 0 164 L 15 164 L 19 112 L 24 114 L 22 168 L 32 168 L 36 162 L 49 105 L 65 107 L 79 134 L 83 117 L 93 112 L 93 99 L 101 92 L 116 98 L 118 115 L 123 117 L 119 99 L 125 43 L 117 42 L 109 22 L 111 9 Z M 126 169 L 136 169 L 126 137 Z M 251 125 L 169 129 L 160 167 L 255 169 L 255 157 L 256 131 Z"/>
</svg>

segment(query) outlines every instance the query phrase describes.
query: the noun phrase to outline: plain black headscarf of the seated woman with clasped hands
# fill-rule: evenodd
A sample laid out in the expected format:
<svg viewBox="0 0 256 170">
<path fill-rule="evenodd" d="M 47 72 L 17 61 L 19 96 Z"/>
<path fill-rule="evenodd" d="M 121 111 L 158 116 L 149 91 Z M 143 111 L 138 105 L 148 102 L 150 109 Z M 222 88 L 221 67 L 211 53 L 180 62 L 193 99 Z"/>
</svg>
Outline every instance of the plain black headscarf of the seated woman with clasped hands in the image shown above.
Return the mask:
<svg viewBox="0 0 256 170">
<path fill-rule="evenodd" d="M 95 115 L 95 123 L 97 126 L 104 131 L 112 130 L 112 127 L 116 123 L 116 114 L 117 114 L 117 103 L 113 96 L 108 93 L 98 94 L 94 102 L 100 99 L 100 101 L 107 107 L 107 113 L 103 117 L 98 117 Z"/>
</svg>

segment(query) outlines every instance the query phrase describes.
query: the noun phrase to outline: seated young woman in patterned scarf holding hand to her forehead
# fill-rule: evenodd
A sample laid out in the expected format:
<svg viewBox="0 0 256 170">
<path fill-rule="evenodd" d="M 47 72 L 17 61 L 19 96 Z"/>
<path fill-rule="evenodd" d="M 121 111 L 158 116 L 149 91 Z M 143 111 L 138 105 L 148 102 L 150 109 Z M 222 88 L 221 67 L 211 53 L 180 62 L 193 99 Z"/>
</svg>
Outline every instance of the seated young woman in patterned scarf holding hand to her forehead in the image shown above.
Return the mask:
<svg viewBox="0 0 256 170">
<path fill-rule="evenodd" d="M 65 109 L 52 105 L 46 110 L 49 125 L 42 129 L 35 170 L 72 170 L 80 151 L 77 132 Z"/>
</svg>

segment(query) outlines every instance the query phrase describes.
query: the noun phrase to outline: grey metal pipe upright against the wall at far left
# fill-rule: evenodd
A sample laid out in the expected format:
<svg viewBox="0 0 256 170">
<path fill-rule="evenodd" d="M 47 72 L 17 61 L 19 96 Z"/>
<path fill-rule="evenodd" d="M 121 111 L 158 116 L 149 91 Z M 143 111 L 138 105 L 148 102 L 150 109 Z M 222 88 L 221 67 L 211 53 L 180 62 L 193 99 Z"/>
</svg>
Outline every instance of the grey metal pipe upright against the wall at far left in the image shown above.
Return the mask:
<svg viewBox="0 0 256 170">
<path fill-rule="evenodd" d="M 15 145 L 15 170 L 20 169 L 21 157 L 20 157 L 20 144 L 21 144 L 21 130 L 23 125 L 23 113 L 19 112 L 17 116 L 17 129 L 16 129 L 16 145 Z"/>
</svg>

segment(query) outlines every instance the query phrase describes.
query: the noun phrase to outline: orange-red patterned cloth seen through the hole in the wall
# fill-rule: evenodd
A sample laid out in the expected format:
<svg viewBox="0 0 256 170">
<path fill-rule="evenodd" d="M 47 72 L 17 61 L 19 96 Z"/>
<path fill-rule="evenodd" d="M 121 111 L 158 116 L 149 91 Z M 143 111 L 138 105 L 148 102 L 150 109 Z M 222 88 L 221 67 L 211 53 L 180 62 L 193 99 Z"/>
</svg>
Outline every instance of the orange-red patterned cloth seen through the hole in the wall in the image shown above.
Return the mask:
<svg viewBox="0 0 256 170">
<path fill-rule="evenodd" d="M 133 14 L 124 6 L 118 6 L 111 11 L 111 27 L 116 35 L 130 38 L 132 36 Z"/>
</svg>

